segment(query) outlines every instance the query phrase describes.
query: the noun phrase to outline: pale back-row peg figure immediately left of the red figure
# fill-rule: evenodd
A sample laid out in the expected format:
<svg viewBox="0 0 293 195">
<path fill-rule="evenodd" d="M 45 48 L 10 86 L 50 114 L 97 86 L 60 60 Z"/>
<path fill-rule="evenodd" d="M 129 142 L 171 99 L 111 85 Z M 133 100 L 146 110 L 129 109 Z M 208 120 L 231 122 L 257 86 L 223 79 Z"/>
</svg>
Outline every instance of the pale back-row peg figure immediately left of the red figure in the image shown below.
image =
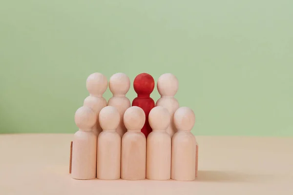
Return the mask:
<svg viewBox="0 0 293 195">
<path fill-rule="evenodd" d="M 124 73 L 116 73 L 109 79 L 109 89 L 113 97 L 108 100 L 108 106 L 117 108 L 120 114 L 120 124 L 117 127 L 117 133 L 122 137 L 127 129 L 123 123 L 123 115 L 127 108 L 130 107 L 130 100 L 126 94 L 130 88 L 130 80 Z"/>
</svg>

